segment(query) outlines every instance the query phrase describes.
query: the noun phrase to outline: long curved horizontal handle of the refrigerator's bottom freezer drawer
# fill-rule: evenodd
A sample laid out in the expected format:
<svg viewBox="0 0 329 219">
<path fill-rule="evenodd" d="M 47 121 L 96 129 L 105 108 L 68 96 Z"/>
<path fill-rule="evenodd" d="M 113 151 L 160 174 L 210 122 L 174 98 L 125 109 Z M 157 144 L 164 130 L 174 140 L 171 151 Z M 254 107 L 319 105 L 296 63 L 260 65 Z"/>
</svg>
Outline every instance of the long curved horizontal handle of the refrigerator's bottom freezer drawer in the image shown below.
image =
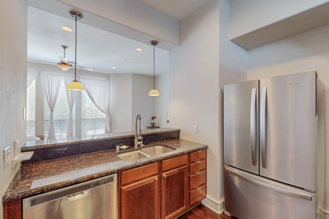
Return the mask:
<svg viewBox="0 0 329 219">
<path fill-rule="evenodd" d="M 310 195 L 306 195 L 306 194 L 296 192 L 296 191 L 291 191 L 291 190 L 288 190 L 288 189 L 284 189 L 284 188 L 280 188 L 280 187 L 277 187 L 277 186 L 274 186 L 274 185 L 263 183 L 263 182 L 260 182 L 258 180 L 254 180 L 251 177 L 248 177 L 246 175 L 235 172 L 233 168 L 230 168 L 228 166 L 225 166 L 225 172 L 228 172 L 232 175 L 235 175 L 235 176 L 237 176 L 237 177 L 241 178 L 242 180 L 245 180 L 249 183 L 252 183 L 252 184 L 255 184 L 255 185 L 270 189 L 270 190 L 273 190 L 273 191 L 277 191 L 277 192 L 280 192 L 280 193 L 283 193 L 283 194 L 286 194 L 286 195 L 289 195 L 289 196 L 293 196 L 293 197 L 297 197 L 297 198 L 303 198 L 304 200 L 307 200 L 307 201 L 312 201 L 312 196 L 310 196 Z"/>
</svg>

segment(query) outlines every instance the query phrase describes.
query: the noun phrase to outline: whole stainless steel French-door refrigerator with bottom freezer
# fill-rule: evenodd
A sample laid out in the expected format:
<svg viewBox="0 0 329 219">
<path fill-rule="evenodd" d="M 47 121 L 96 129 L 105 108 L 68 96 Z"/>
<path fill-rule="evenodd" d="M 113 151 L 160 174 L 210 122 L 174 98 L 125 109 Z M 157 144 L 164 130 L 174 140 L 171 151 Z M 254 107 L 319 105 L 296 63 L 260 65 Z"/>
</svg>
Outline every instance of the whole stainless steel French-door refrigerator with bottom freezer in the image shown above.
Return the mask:
<svg viewBox="0 0 329 219">
<path fill-rule="evenodd" d="M 224 86 L 226 215 L 324 218 L 324 162 L 316 72 Z"/>
</svg>

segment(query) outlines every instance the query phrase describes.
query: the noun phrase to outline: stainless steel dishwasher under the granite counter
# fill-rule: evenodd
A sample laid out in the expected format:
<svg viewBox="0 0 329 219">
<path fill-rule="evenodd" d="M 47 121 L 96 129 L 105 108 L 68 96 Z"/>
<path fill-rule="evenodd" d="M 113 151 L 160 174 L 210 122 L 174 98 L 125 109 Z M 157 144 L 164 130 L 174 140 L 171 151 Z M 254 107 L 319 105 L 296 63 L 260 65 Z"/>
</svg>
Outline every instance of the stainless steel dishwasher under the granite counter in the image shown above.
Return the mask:
<svg viewBox="0 0 329 219">
<path fill-rule="evenodd" d="M 23 199 L 23 219 L 118 218 L 118 176 L 112 174 Z"/>
</svg>

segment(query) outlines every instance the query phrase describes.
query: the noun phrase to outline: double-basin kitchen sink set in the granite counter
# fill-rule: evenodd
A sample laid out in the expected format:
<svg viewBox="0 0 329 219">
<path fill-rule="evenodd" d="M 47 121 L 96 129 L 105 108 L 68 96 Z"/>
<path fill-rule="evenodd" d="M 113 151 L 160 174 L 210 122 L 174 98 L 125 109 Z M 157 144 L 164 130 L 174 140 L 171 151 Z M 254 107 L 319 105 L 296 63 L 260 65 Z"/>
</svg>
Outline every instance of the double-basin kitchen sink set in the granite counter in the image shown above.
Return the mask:
<svg viewBox="0 0 329 219">
<path fill-rule="evenodd" d="M 155 145 L 147 148 L 142 148 L 139 151 L 131 151 L 117 154 L 122 161 L 137 161 L 141 158 L 155 156 L 162 153 L 174 151 L 176 148 L 171 148 L 164 145 Z"/>
</svg>

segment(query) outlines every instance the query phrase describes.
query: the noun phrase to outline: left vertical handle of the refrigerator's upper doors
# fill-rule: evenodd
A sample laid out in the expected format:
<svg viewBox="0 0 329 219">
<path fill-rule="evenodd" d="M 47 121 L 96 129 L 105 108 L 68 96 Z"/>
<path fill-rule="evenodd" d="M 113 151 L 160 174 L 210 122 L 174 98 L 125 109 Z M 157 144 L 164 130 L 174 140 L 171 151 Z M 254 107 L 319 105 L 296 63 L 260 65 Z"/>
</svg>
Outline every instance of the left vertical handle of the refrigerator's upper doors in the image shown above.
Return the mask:
<svg viewBox="0 0 329 219">
<path fill-rule="evenodd" d="M 250 146 L 251 146 L 251 161 L 252 165 L 256 166 L 256 126 L 255 126 L 255 104 L 256 104 L 256 88 L 251 90 L 251 103 L 250 103 Z"/>
</svg>

